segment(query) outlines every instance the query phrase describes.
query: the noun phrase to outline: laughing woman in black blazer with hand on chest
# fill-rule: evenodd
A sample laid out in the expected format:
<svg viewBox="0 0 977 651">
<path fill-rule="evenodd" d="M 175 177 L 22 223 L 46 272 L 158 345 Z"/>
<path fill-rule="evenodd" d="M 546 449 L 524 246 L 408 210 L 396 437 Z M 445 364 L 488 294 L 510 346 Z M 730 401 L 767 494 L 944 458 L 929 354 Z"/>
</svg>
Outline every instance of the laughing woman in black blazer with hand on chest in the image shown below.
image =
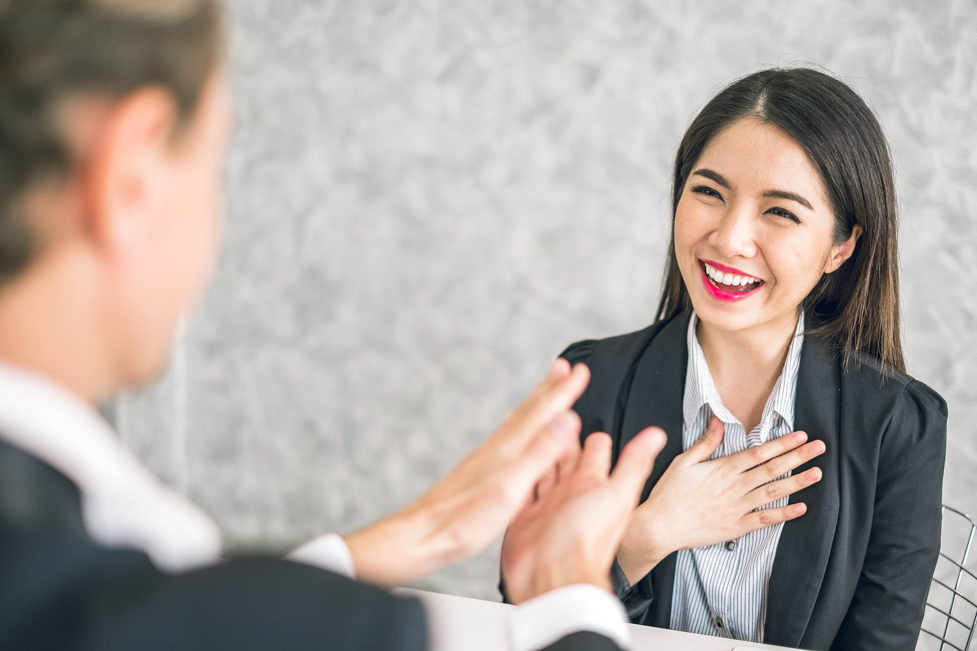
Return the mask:
<svg viewBox="0 0 977 651">
<path fill-rule="evenodd" d="M 669 434 L 618 549 L 634 622 L 914 648 L 940 546 L 947 410 L 904 372 L 896 201 L 871 109 L 823 72 L 747 75 L 689 127 L 657 322 L 563 354 L 593 373 L 576 406 L 584 436 L 610 432 L 619 450 L 647 425 Z M 794 430 L 826 452 L 793 473 L 808 488 L 770 490 L 768 506 L 803 499 L 806 514 L 742 535 L 722 524 L 735 520 L 716 490 L 725 475 L 690 455 Z M 714 533 L 665 540 L 648 526 L 662 518 Z"/>
</svg>

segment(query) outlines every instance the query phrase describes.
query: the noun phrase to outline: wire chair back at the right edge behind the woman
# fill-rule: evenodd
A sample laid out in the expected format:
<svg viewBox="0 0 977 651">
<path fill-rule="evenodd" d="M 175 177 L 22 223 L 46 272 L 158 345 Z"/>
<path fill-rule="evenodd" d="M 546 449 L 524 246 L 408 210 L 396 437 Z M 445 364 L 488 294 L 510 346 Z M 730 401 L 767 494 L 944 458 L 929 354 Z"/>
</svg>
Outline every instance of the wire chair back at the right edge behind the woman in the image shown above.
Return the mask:
<svg viewBox="0 0 977 651">
<path fill-rule="evenodd" d="M 948 515 L 950 519 L 948 520 Z M 943 505 L 943 548 L 936 564 L 933 583 L 926 599 L 926 616 L 917 649 L 967 651 L 977 627 L 977 575 L 964 567 L 977 533 L 973 518 L 952 506 Z M 950 538 L 948 540 L 948 534 Z M 960 544 L 962 542 L 962 544 Z M 951 555 L 949 545 L 963 551 Z M 935 640 L 934 640 L 935 638 Z"/>
</svg>

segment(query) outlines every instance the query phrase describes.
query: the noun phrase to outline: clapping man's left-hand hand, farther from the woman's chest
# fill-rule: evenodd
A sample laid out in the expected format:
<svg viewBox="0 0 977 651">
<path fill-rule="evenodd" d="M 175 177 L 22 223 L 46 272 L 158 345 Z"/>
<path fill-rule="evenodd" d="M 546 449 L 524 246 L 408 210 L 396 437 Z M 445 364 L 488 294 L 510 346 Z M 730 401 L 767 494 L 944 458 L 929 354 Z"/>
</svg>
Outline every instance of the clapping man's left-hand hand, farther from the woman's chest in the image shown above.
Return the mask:
<svg viewBox="0 0 977 651">
<path fill-rule="evenodd" d="M 579 450 L 573 403 L 590 380 L 557 360 L 529 399 L 430 491 L 346 537 L 357 577 L 400 586 L 485 550 L 561 457 Z"/>
</svg>

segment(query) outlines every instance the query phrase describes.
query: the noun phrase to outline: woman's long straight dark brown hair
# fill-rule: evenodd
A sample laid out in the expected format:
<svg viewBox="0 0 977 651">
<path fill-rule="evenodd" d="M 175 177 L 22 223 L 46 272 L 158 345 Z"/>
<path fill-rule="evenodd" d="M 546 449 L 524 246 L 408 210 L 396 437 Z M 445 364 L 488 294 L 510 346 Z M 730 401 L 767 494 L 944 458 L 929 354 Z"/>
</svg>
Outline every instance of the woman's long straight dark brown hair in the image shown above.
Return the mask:
<svg viewBox="0 0 977 651">
<path fill-rule="evenodd" d="M 841 353 L 856 352 L 885 368 L 905 370 L 899 319 L 899 251 L 895 179 L 882 128 L 865 101 L 844 82 L 819 70 L 770 68 L 733 82 L 701 109 L 675 156 L 672 239 L 658 320 L 692 310 L 675 258 L 675 211 L 702 152 L 743 118 L 777 127 L 821 175 L 834 212 L 835 244 L 862 227 L 855 251 L 825 274 L 804 299 L 807 332 Z"/>
</svg>

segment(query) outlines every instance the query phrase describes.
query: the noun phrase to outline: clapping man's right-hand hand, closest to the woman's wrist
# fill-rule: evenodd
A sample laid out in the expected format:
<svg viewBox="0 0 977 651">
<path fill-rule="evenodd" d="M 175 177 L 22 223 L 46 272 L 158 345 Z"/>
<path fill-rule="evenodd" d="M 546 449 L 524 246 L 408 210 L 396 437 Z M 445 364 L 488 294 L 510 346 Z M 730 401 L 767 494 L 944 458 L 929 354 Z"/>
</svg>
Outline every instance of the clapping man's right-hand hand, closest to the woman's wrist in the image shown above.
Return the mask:
<svg viewBox="0 0 977 651">
<path fill-rule="evenodd" d="M 513 603 L 574 584 L 610 589 L 617 545 L 664 445 L 664 432 L 644 430 L 610 476 L 611 437 L 602 432 L 587 437 L 582 453 L 561 459 L 502 542 L 502 578 Z"/>
</svg>

